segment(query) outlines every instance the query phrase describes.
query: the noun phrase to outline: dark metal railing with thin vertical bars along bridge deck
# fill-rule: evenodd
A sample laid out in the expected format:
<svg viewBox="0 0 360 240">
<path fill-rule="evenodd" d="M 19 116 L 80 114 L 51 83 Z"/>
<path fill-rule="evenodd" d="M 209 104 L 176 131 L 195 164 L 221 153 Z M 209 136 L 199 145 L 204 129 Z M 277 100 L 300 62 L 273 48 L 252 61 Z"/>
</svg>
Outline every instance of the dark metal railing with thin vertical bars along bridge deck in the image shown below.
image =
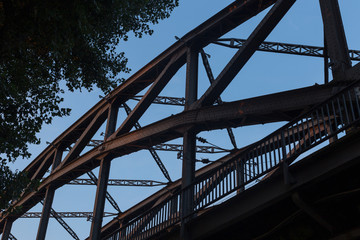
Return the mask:
<svg viewBox="0 0 360 240">
<path fill-rule="evenodd" d="M 287 176 L 287 166 L 300 154 L 330 138 L 336 139 L 339 133 L 350 131 L 358 124 L 359 96 L 360 82 L 357 81 L 236 157 L 197 177 L 188 188 L 130 220 L 105 239 L 149 238 L 235 191 L 241 192 L 275 169 L 284 171 Z M 189 195 L 194 199 L 191 212 L 181 216 L 180 200 Z"/>
</svg>

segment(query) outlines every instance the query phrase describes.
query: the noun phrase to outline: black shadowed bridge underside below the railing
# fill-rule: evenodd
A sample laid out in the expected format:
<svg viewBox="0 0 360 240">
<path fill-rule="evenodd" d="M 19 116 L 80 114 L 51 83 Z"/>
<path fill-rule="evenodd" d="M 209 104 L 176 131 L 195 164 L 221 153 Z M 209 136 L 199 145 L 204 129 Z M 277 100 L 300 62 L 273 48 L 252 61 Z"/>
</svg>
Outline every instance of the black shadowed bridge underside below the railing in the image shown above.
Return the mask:
<svg viewBox="0 0 360 240">
<path fill-rule="evenodd" d="M 192 239 L 358 239 L 360 132 L 277 172 L 187 225 Z M 179 239 L 174 227 L 156 239 Z"/>
</svg>

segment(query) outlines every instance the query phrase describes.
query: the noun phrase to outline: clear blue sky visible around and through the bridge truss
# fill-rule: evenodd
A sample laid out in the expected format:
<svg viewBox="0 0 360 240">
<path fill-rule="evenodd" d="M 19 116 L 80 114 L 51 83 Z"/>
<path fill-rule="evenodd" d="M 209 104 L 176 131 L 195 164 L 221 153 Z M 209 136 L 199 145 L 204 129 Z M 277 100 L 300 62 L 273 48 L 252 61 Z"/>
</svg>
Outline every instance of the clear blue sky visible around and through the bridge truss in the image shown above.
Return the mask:
<svg viewBox="0 0 360 240">
<path fill-rule="evenodd" d="M 203 21 L 217 13 L 219 10 L 230 4 L 232 1 L 218 0 L 180 0 L 180 6 L 176 8 L 169 19 L 154 26 L 154 34 L 145 36 L 142 39 L 130 37 L 128 42 L 120 44 L 119 49 L 125 51 L 129 58 L 131 73 L 136 72 L 163 50 L 173 44 L 175 36 L 182 37 L 184 34 L 201 24 Z M 360 10 L 359 0 L 339 0 L 342 16 L 347 34 L 350 49 L 360 49 L 360 34 L 358 26 L 358 12 Z M 262 19 L 263 12 L 254 17 L 247 23 L 228 33 L 226 37 L 247 38 L 256 24 Z M 285 43 L 306 44 L 322 46 L 322 19 L 318 0 L 298 0 L 278 27 L 270 34 L 267 41 L 278 41 Z M 216 76 L 235 53 L 233 49 L 210 45 L 205 51 L 211 55 L 209 59 L 214 75 Z M 199 95 L 209 86 L 208 79 L 199 61 Z M 256 52 L 244 69 L 238 74 L 234 81 L 223 93 L 224 101 L 234 101 L 278 91 L 285 91 L 315 83 L 323 83 L 323 61 L 319 58 Z M 185 69 L 182 68 L 174 76 L 169 85 L 160 94 L 162 96 L 183 97 Z M 130 75 L 123 75 L 127 78 Z M 66 93 L 64 107 L 72 108 L 70 117 L 55 119 L 50 126 L 44 126 L 39 136 L 42 144 L 31 146 L 33 157 L 39 154 L 46 142 L 53 141 L 61 132 L 66 130 L 73 122 L 88 111 L 99 101 L 99 95 L 103 95 L 98 90 L 92 93 L 75 92 Z M 136 102 L 130 102 L 134 106 Z M 154 105 L 141 118 L 140 124 L 160 120 L 170 114 L 180 112 L 180 107 Z M 124 115 L 125 113 L 123 113 Z M 265 126 L 252 126 L 235 129 L 235 137 L 239 147 L 247 145 L 253 141 L 261 139 L 266 134 L 281 126 L 278 124 L 268 124 Z M 199 136 L 206 138 L 209 142 L 230 149 L 231 144 L 225 130 L 200 133 Z M 98 136 L 97 139 L 101 139 Z M 181 140 L 173 141 L 181 143 Z M 167 167 L 173 180 L 180 177 L 181 161 L 177 159 L 176 152 L 159 152 L 159 155 Z M 215 160 L 221 155 L 198 155 Z M 13 168 L 23 169 L 30 160 L 18 160 Z M 201 163 L 197 167 L 203 166 Z M 93 171 L 97 174 L 98 169 Z M 155 164 L 151 155 L 147 151 L 141 151 L 130 156 L 115 159 L 112 162 L 110 178 L 117 179 L 152 179 L 165 181 L 160 170 Z M 121 210 L 126 210 L 135 203 L 144 199 L 159 188 L 145 187 L 109 187 L 108 191 L 118 202 Z M 56 191 L 53 208 L 58 212 L 64 211 L 85 211 L 93 210 L 95 197 L 95 186 L 65 186 Z M 41 211 L 41 206 L 37 205 L 31 212 Z M 107 203 L 106 212 L 115 212 Z M 104 219 L 104 224 L 111 218 Z M 86 219 L 65 219 L 81 239 L 89 235 L 90 222 Z M 12 233 L 18 239 L 35 239 L 39 219 L 18 219 L 12 229 Z M 47 232 L 47 239 L 72 239 L 70 235 L 56 222 L 51 219 Z"/>
</svg>

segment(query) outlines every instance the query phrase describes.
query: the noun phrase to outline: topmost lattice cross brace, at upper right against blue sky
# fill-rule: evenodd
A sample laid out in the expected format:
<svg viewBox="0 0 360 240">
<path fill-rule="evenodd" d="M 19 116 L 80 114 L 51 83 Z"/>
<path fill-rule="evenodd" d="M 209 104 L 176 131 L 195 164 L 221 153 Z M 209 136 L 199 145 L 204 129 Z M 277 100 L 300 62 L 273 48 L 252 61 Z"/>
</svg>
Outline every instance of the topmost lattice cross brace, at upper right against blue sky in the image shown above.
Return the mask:
<svg viewBox="0 0 360 240">
<path fill-rule="evenodd" d="M 244 46 L 246 39 L 240 38 L 221 38 L 214 41 L 214 44 L 229 47 L 229 48 L 241 48 Z M 286 53 L 311 57 L 325 57 L 324 47 L 316 47 L 302 44 L 290 44 L 281 42 L 263 42 L 257 48 L 258 51 L 274 52 L 274 53 Z M 360 61 L 359 50 L 349 50 L 350 59 L 353 61 Z"/>
</svg>

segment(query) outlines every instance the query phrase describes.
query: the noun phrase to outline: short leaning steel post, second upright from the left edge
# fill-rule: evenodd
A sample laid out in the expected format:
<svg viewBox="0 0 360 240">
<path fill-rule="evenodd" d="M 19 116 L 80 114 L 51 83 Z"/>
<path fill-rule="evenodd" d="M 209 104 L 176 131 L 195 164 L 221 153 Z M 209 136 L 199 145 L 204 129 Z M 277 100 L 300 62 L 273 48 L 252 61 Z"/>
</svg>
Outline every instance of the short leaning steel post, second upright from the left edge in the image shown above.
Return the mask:
<svg viewBox="0 0 360 240">
<path fill-rule="evenodd" d="M 59 166 L 59 164 L 61 162 L 62 154 L 63 154 L 63 149 L 61 149 L 61 148 L 56 149 L 51 171 L 53 171 L 57 166 Z M 52 203 L 54 200 L 54 195 L 55 195 L 55 189 L 52 188 L 50 185 L 46 190 L 44 204 L 43 204 L 43 210 L 41 213 L 41 219 L 40 219 L 40 223 L 39 223 L 38 232 L 36 235 L 36 240 L 44 240 L 45 239 L 46 230 L 47 230 L 47 226 L 48 226 L 49 218 L 50 218 L 51 206 L 52 206 Z"/>
</svg>

